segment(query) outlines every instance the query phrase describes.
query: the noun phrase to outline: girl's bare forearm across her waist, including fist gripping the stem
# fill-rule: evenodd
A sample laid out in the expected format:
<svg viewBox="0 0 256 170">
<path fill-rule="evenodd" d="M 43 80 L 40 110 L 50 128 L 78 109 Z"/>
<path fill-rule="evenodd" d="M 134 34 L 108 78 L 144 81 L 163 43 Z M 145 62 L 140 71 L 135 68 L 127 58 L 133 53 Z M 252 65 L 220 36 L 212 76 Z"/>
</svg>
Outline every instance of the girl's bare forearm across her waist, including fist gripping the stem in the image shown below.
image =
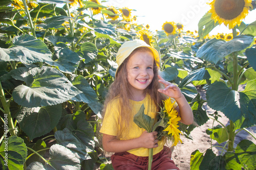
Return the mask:
<svg viewBox="0 0 256 170">
<path fill-rule="evenodd" d="M 116 136 L 103 133 L 102 144 L 106 152 L 118 153 L 136 148 L 157 148 L 158 140 L 156 138 L 157 132 L 147 133 L 147 131 L 144 131 L 140 137 L 129 140 L 119 140 Z"/>
</svg>

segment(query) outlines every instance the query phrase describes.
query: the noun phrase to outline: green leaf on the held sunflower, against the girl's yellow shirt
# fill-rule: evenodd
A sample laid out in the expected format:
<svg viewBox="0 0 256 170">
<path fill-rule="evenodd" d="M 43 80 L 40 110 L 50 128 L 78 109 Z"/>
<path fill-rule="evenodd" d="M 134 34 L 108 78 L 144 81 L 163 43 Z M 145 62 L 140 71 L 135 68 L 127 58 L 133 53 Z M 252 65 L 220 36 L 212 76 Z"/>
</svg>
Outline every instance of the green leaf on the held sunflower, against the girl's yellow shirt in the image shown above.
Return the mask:
<svg viewBox="0 0 256 170">
<path fill-rule="evenodd" d="M 144 110 L 145 107 L 144 104 L 142 104 L 138 113 L 133 116 L 133 122 L 140 128 L 145 129 L 147 132 L 152 132 L 154 119 L 144 114 Z"/>
</svg>

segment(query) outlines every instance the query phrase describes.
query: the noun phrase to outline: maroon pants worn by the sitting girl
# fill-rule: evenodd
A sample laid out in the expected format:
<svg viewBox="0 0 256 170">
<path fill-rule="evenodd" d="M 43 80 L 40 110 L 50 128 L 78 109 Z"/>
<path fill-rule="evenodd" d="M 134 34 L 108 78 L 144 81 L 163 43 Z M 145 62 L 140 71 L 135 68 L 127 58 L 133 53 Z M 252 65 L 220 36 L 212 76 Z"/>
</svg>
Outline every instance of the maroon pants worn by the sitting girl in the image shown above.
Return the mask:
<svg viewBox="0 0 256 170">
<path fill-rule="evenodd" d="M 166 170 L 166 169 L 178 169 L 171 160 L 172 151 L 169 148 L 164 147 L 161 152 L 153 155 L 152 169 Z M 135 169 L 147 169 L 148 157 L 140 157 L 128 152 L 115 153 L 111 156 L 112 165 L 115 170 L 135 170 Z"/>
</svg>

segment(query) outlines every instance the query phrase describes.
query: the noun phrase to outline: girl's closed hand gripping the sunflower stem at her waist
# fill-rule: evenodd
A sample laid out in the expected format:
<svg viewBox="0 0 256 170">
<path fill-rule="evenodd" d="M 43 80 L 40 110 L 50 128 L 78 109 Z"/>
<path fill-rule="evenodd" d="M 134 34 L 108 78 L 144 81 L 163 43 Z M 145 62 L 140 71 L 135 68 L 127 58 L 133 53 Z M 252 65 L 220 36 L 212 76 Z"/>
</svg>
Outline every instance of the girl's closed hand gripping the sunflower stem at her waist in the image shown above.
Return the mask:
<svg viewBox="0 0 256 170">
<path fill-rule="evenodd" d="M 148 133 L 144 131 L 140 137 L 140 143 L 142 148 L 157 148 L 158 147 L 158 140 L 157 140 L 157 132 Z"/>
</svg>

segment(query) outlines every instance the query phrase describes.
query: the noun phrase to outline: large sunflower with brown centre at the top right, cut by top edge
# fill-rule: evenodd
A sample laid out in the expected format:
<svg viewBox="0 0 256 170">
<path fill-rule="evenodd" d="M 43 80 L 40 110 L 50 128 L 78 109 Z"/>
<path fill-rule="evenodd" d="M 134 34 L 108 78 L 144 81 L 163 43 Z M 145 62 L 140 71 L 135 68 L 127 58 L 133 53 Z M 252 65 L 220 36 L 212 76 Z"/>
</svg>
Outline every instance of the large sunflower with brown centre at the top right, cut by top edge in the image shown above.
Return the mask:
<svg viewBox="0 0 256 170">
<path fill-rule="evenodd" d="M 248 14 L 249 8 L 253 8 L 251 4 L 252 0 L 214 0 L 209 5 L 211 9 L 208 11 L 211 13 L 211 19 L 215 22 L 224 23 L 229 29 L 234 26 L 240 26 L 242 20 Z"/>
</svg>

